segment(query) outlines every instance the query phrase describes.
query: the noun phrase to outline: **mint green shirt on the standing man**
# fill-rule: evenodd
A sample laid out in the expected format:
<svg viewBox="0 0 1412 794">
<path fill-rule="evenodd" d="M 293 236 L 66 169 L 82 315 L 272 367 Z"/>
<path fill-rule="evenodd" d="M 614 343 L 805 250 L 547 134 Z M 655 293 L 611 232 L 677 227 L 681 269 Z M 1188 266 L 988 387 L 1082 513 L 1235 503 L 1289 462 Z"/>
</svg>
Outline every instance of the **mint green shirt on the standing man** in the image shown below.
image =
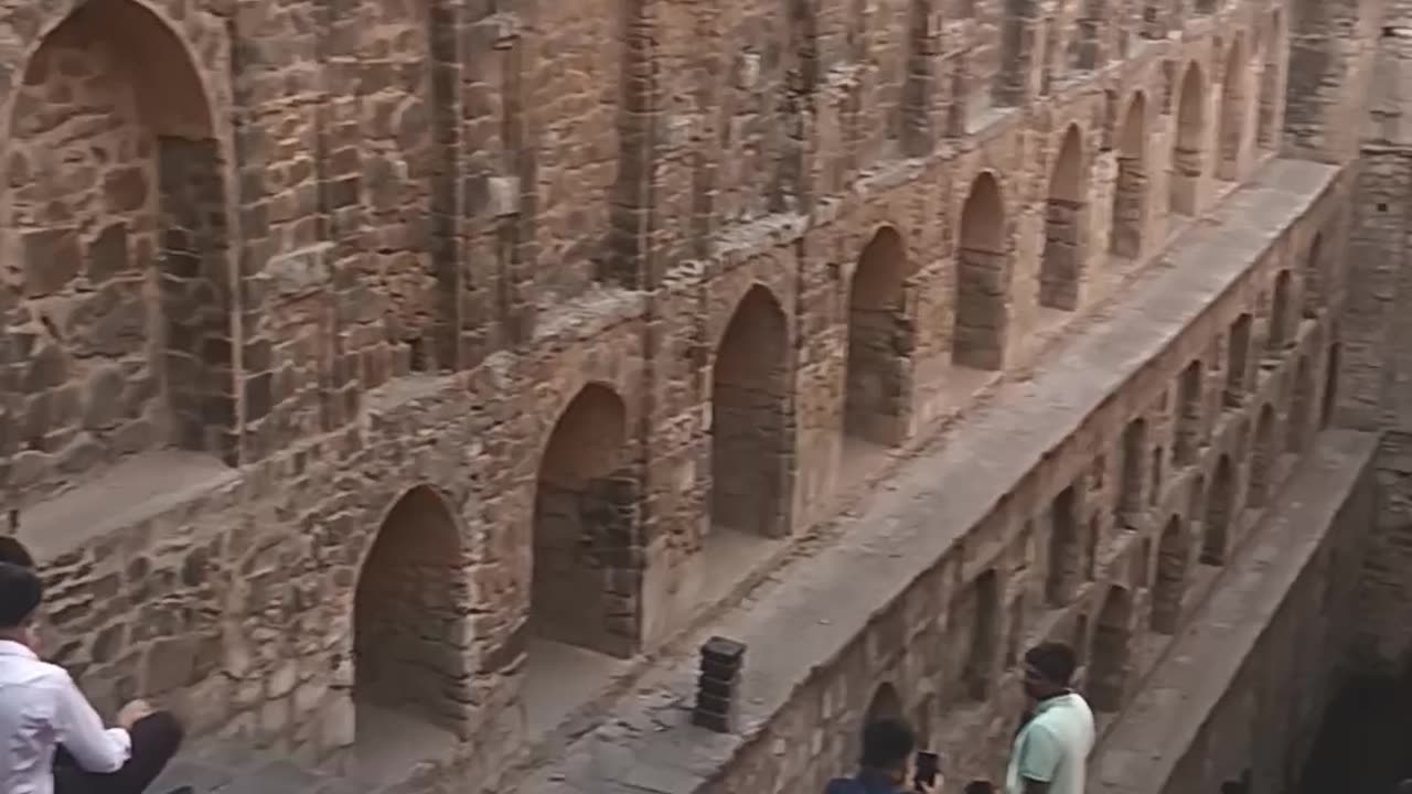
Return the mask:
<svg viewBox="0 0 1412 794">
<path fill-rule="evenodd" d="M 1051 794 L 1083 794 L 1084 767 L 1093 750 L 1093 711 L 1076 692 L 1035 706 L 1035 716 L 1015 736 L 1005 773 L 1005 793 L 1024 794 L 1025 778 L 1048 783 Z"/>
</svg>

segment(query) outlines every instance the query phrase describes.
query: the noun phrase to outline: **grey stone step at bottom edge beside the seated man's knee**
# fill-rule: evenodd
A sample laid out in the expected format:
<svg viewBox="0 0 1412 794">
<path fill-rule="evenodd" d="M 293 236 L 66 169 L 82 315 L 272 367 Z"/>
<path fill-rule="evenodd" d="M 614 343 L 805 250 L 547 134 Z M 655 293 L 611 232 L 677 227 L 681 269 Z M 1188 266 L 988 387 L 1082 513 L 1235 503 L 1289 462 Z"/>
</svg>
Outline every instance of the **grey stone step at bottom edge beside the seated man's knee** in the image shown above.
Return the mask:
<svg viewBox="0 0 1412 794">
<path fill-rule="evenodd" d="M 148 787 L 165 794 L 182 786 L 196 794 L 364 794 L 353 781 L 309 770 L 288 759 L 233 745 L 184 749 Z"/>
</svg>

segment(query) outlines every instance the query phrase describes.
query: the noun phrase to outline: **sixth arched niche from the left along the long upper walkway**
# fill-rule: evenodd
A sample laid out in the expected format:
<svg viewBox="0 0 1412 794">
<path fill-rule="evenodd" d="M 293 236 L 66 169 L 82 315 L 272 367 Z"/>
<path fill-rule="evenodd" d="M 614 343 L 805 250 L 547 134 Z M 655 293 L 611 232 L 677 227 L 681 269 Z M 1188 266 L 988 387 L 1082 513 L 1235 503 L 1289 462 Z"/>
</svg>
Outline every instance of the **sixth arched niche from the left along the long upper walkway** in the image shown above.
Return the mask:
<svg viewBox="0 0 1412 794">
<path fill-rule="evenodd" d="M 1073 311 L 1083 277 L 1083 138 L 1070 124 L 1055 157 L 1045 205 L 1045 249 L 1039 263 L 1039 305 Z"/>
</svg>

